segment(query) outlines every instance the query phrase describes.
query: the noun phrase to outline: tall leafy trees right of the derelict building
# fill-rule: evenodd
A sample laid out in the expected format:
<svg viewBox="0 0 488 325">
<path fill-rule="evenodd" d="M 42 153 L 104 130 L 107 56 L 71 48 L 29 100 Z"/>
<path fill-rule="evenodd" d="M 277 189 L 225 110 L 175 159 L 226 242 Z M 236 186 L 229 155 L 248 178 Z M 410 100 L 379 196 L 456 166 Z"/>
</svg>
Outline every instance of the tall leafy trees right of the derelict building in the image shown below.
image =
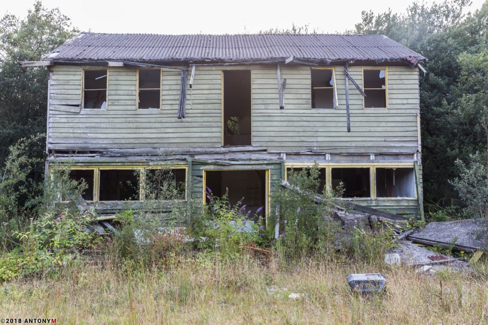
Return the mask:
<svg viewBox="0 0 488 325">
<path fill-rule="evenodd" d="M 468 72 L 468 65 L 469 55 L 482 57 L 480 51 L 486 49 L 488 2 L 475 13 L 464 15 L 469 5 L 468 0 L 445 0 L 430 7 L 413 3 L 405 14 L 363 12 L 353 31 L 386 35 L 429 59 L 425 64 L 428 74 L 420 75 L 427 201 L 456 197 L 448 183 L 460 172 L 454 161 L 474 154 L 484 144 L 478 113 L 486 87 L 483 91 L 475 74 Z M 471 87 L 473 83 L 479 87 Z"/>
</svg>

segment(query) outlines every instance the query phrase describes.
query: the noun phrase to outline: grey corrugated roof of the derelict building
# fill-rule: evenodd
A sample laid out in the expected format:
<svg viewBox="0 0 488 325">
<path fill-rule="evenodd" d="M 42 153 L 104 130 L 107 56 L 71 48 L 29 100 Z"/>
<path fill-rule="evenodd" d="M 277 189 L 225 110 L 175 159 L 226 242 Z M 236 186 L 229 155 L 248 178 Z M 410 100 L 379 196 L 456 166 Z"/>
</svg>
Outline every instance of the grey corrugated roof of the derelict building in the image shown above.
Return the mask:
<svg viewBox="0 0 488 325">
<path fill-rule="evenodd" d="M 50 61 L 400 61 L 425 57 L 382 35 L 155 35 L 81 33 Z"/>
</svg>

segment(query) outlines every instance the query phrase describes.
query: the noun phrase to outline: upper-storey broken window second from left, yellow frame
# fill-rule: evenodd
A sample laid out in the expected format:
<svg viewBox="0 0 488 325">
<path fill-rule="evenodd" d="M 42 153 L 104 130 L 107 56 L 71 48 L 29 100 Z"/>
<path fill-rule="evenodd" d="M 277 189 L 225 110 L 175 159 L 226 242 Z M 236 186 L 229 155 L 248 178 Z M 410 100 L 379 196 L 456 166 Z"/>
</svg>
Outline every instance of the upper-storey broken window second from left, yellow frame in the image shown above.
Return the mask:
<svg viewBox="0 0 488 325">
<path fill-rule="evenodd" d="M 161 69 L 139 69 L 138 108 L 161 107 Z"/>
</svg>

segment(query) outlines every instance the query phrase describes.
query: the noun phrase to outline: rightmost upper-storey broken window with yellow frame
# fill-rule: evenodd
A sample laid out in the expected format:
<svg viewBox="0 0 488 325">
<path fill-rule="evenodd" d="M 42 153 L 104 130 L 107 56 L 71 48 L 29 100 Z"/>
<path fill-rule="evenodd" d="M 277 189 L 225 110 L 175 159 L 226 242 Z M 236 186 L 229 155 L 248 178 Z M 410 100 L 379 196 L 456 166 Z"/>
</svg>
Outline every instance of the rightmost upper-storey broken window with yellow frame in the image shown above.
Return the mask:
<svg viewBox="0 0 488 325">
<path fill-rule="evenodd" d="M 386 108 L 386 69 L 363 70 L 365 108 Z"/>
</svg>

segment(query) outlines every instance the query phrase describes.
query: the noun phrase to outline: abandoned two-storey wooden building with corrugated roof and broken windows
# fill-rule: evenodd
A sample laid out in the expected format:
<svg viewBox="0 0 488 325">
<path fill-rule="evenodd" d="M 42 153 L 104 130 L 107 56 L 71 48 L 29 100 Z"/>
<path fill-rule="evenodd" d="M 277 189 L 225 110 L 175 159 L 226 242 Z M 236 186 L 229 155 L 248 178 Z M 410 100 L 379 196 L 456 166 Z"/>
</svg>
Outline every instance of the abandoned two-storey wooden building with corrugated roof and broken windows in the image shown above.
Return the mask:
<svg viewBox="0 0 488 325">
<path fill-rule="evenodd" d="M 168 203 L 229 188 L 268 213 L 290 168 L 317 162 L 344 199 L 418 214 L 424 61 L 380 35 L 81 33 L 22 64 L 50 71 L 47 167 L 71 164 L 99 212 L 143 206 L 127 184 L 163 164 Z"/>
</svg>

